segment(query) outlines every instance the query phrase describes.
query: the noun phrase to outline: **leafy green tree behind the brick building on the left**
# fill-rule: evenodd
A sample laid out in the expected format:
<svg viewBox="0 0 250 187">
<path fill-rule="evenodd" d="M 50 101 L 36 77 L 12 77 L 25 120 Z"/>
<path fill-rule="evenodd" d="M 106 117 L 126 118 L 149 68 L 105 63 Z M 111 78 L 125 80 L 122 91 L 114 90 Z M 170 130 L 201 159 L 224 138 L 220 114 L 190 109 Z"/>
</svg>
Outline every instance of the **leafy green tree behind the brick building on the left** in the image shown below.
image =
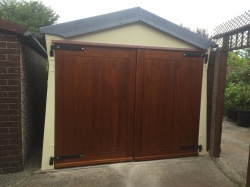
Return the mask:
<svg viewBox="0 0 250 187">
<path fill-rule="evenodd" d="M 40 27 L 56 23 L 59 15 L 39 1 L 3 0 L 0 1 L 0 18 L 24 25 L 29 31 L 39 33 Z"/>
</svg>

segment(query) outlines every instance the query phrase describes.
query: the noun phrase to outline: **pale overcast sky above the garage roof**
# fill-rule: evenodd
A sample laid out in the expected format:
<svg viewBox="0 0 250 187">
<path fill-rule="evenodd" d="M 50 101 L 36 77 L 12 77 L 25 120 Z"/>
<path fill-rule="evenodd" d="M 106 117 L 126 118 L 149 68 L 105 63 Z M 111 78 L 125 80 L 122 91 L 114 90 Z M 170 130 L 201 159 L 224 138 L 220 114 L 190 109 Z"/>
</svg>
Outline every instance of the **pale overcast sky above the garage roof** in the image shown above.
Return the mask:
<svg viewBox="0 0 250 187">
<path fill-rule="evenodd" d="M 250 0 L 40 0 L 50 6 L 63 23 L 133 7 L 141 7 L 175 24 L 213 29 L 250 10 Z"/>
</svg>

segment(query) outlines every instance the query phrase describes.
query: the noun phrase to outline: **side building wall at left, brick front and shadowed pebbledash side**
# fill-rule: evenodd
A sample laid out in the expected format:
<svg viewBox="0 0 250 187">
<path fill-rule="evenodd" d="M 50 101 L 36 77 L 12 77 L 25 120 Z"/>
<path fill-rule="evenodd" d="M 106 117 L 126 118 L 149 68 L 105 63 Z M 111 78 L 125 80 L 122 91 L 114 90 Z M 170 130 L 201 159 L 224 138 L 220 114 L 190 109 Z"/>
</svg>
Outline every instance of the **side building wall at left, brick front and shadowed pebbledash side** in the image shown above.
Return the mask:
<svg viewBox="0 0 250 187">
<path fill-rule="evenodd" d="M 23 170 L 43 135 L 46 59 L 25 38 L 0 29 L 0 173 Z"/>
</svg>

